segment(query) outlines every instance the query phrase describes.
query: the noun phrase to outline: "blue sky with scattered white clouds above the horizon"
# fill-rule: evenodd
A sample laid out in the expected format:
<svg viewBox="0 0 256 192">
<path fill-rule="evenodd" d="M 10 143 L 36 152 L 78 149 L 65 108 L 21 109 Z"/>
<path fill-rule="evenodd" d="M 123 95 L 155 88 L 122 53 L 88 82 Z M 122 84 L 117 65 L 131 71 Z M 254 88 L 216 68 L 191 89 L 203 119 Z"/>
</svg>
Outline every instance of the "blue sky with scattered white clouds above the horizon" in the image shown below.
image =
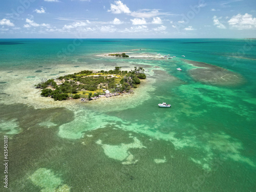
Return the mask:
<svg viewBox="0 0 256 192">
<path fill-rule="evenodd" d="M 256 37 L 255 0 L 8 0 L 0 38 Z"/>
</svg>

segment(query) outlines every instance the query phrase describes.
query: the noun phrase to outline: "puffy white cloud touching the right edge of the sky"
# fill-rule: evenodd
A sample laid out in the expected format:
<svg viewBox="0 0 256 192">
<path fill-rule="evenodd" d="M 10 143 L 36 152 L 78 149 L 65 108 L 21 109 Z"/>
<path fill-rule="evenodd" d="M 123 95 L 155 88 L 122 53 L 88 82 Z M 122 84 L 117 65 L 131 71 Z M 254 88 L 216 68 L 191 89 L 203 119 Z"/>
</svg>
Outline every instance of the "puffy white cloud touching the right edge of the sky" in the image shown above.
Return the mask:
<svg viewBox="0 0 256 192">
<path fill-rule="evenodd" d="M 244 15 L 237 14 L 232 16 L 228 20 L 228 24 L 233 29 L 255 29 L 256 28 L 256 18 L 252 15 L 245 13 Z"/>
</svg>

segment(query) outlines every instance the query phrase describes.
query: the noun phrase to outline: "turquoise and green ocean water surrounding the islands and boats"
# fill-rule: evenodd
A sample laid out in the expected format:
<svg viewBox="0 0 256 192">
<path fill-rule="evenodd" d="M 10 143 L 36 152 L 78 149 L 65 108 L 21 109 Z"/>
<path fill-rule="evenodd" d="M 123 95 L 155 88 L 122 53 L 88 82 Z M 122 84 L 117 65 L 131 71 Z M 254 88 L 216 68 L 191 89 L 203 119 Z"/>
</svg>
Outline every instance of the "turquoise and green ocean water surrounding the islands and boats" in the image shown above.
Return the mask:
<svg viewBox="0 0 256 192">
<path fill-rule="evenodd" d="M 1 191 L 255 191 L 255 45 L 0 39 L 1 143 L 9 138 Z M 114 52 L 134 58 L 102 56 Z M 134 94 L 91 102 L 53 101 L 34 88 L 41 78 L 115 66 L 150 72 Z"/>
</svg>

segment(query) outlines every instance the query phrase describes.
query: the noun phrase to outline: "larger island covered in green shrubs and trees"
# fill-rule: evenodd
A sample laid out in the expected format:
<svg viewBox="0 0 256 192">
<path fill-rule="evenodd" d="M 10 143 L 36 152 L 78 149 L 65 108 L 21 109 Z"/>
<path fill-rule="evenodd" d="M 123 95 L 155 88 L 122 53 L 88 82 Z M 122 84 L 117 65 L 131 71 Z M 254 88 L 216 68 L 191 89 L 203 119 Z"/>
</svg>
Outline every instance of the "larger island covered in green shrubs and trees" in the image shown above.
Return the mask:
<svg viewBox="0 0 256 192">
<path fill-rule="evenodd" d="M 41 96 L 56 100 L 79 99 L 82 101 L 97 99 L 102 96 L 112 97 L 119 94 L 132 93 L 140 79 L 145 79 L 144 69 L 134 67 L 131 71 L 121 71 L 115 67 L 110 71 L 80 71 L 60 76 L 56 79 L 41 79 L 35 84 L 41 90 Z"/>
</svg>

